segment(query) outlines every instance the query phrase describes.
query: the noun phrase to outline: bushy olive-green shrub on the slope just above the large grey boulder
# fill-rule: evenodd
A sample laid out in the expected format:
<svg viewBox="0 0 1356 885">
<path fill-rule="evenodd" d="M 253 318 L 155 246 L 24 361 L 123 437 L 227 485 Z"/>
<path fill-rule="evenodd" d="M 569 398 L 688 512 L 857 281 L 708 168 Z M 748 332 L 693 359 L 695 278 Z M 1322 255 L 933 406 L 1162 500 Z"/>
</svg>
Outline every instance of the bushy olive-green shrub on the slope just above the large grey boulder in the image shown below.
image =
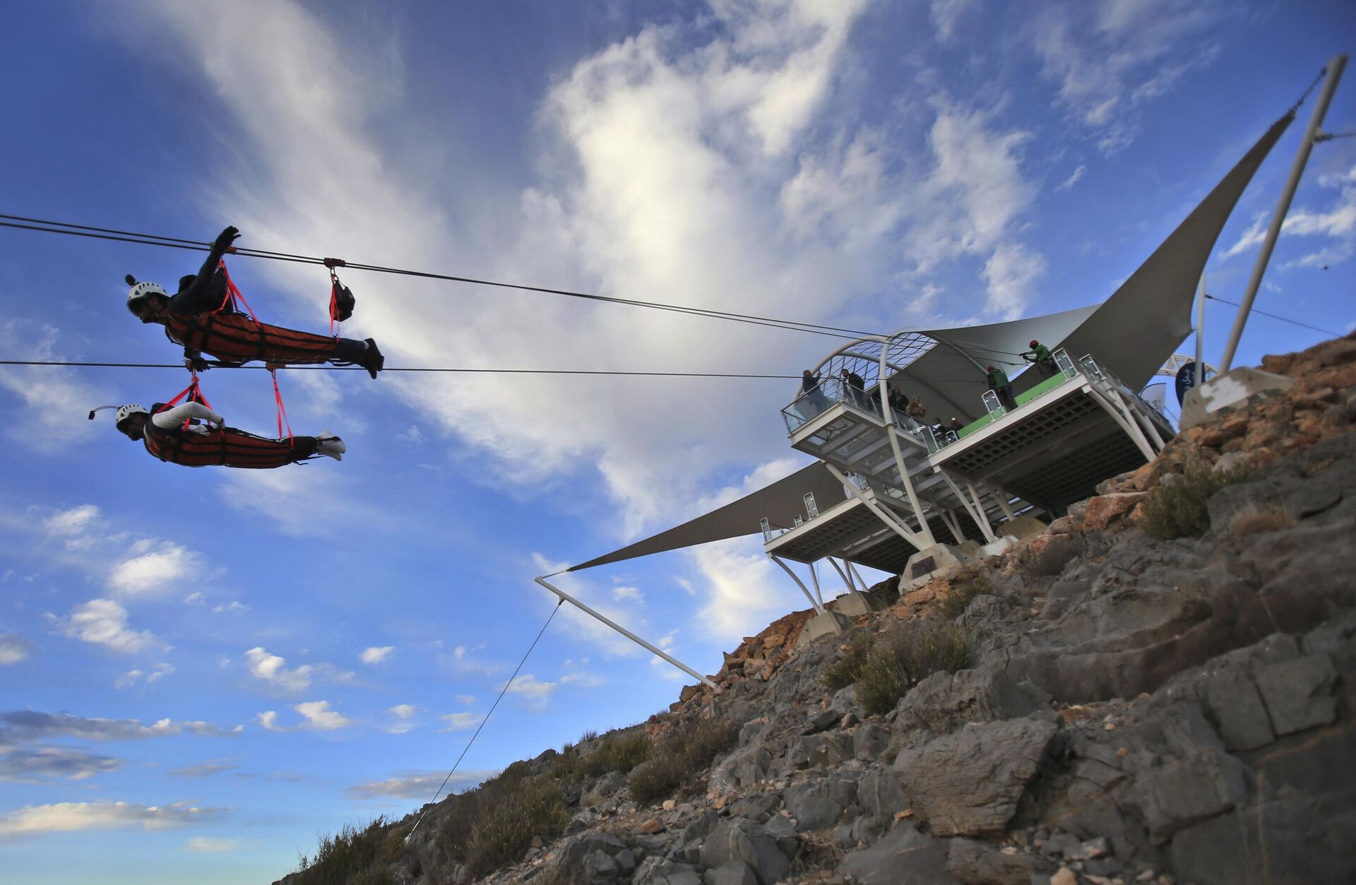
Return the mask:
<svg viewBox="0 0 1356 885">
<path fill-rule="evenodd" d="M 868 713 L 888 713 L 919 680 L 970 664 L 965 632 L 952 623 L 913 621 L 881 637 L 857 680 L 857 701 Z"/>
</svg>

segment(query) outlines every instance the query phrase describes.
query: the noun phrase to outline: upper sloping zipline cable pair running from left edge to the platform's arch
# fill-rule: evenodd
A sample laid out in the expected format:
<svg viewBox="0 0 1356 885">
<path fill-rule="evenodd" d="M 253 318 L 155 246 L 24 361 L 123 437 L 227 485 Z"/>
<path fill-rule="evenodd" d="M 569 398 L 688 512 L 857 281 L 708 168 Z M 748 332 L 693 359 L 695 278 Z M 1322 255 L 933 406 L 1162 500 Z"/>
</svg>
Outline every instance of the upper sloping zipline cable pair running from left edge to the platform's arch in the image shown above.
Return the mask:
<svg viewBox="0 0 1356 885">
<path fill-rule="evenodd" d="M 0 226 L 15 228 L 20 230 L 37 230 L 39 233 L 60 233 L 65 236 L 76 237 L 89 237 L 95 240 L 113 240 L 118 243 L 136 243 L 140 245 L 159 245 L 163 248 L 174 249 L 188 249 L 197 252 L 207 252 L 212 249 L 210 244 L 205 244 L 195 240 L 184 240 L 180 237 L 167 237 L 161 234 L 152 233 L 137 233 L 132 230 L 118 230 L 115 228 L 96 228 L 92 225 L 77 225 L 65 221 L 49 221 L 45 218 L 30 218 L 27 215 L 9 215 L 0 214 Z M 294 262 L 302 264 L 327 264 L 327 259 L 312 256 L 312 255 L 296 255 L 292 252 L 271 252 L 267 249 L 252 249 L 247 247 L 232 247 L 235 255 L 243 255 L 245 258 L 262 258 L 277 262 Z M 330 259 L 332 260 L 332 259 Z M 601 301 L 607 304 L 621 304 L 631 305 L 636 308 L 650 308 L 654 310 L 670 310 L 674 313 L 687 313 L 692 316 L 705 316 L 719 320 L 730 320 L 734 323 L 749 323 L 753 325 L 767 325 L 772 328 L 784 328 L 797 332 L 810 332 L 812 335 L 827 335 L 831 337 L 865 337 L 875 335 L 873 332 L 864 332 L 861 329 L 850 329 L 837 325 L 824 325 L 820 323 L 801 323 L 797 320 L 780 320 L 777 317 L 763 317 L 749 313 L 732 313 L 728 310 L 715 310 L 711 308 L 692 308 L 685 305 L 673 305 L 659 301 L 640 301 L 635 298 L 618 298 L 613 295 L 598 295 L 594 293 L 574 291 L 568 289 L 552 289 L 548 286 L 527 286 L 521 283 L 506 283 L 492 279 L 479 279 L 473 276 L 460 276 L 453 274 L 435 274 L 430 271 L 414 271 L 400 267 L 386 267 L 381 264 L 366 264 L 361 262 L 342 262 L 338 266 L 350 270 L 362 270 L 376 274 L 397 274 L 401 276 L 419 276 L 424 279 L 442 279 L 449 282 L 471 283 L 477 286 L 494 286 L 499 289 L 517 289 L 521 291 L 534 291 L 541 294 L 564 295 L 568 298 L 583 298 L 587 301 Z"/>
</svg>

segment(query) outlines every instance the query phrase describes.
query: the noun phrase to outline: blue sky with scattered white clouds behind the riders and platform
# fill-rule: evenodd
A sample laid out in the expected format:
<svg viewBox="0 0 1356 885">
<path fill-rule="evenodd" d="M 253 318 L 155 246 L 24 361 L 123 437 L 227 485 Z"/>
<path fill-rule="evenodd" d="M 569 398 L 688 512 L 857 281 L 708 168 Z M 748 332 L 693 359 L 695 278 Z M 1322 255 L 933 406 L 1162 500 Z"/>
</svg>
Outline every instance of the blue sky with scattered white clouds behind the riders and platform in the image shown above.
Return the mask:
<svg viewBox="0 0 1356 885">
<path fill-rule="evenodd" d="M 892 329 L 1098 301 L 1349 50 L 1348 3 L 0 7 L 0 211 Z M 1356 129 L 1351 77 L 1328 129 Z M 1302 123 L 1207 270 L 1237 301 Z M 1257 306 L 1353 328 L 1356 140 L 1314 150 Z M 0 230 L 7 359 L 172 362 L 122 276 L 193 253 Z M 1323 270 L 1326 266 L 1328 270 Z M 236 259 L 268 321 L 327 279 Z M 346 274 L 392 366 L 797 374 L 833 340 Z M 1211 305 L 1207 359 L 1231 309 Z M 351 327 L 351 328 L 348 328 Z M 1239 363 L 1321 336 L 1254 317 Z M 1188 350 L 1191 343 L 1184 344 Z M 282 373 L 343 464 L 151 459 L 165 370 L 0 367 L 0 865 L 268 881 L 424 801 L 552 600 L 532 583 L 801 461 L 795 382 Z M 263 373 L 203 377 L 273 426 Z M 107 415 L 102 416 L 107 419 Z M 799 594 L 753 541 L 570 585 L 711 672 Z M 681 674 L 563 611 L 464 762 L 645 718 Z"/>
</svg>

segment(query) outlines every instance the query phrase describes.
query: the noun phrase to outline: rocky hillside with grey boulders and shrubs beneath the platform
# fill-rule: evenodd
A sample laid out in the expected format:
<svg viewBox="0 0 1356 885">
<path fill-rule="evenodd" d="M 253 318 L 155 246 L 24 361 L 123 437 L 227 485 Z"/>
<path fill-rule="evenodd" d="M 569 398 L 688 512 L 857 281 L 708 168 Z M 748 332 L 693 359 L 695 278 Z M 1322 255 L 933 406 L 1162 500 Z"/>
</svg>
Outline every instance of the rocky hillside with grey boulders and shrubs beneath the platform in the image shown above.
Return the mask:
<svg viewBox="0 0 1356 885">
<path fill-rule="evenodd" d="M 1356 881 L 1356 340 L 1050 531 L 289 882 Z"/>
</svg>

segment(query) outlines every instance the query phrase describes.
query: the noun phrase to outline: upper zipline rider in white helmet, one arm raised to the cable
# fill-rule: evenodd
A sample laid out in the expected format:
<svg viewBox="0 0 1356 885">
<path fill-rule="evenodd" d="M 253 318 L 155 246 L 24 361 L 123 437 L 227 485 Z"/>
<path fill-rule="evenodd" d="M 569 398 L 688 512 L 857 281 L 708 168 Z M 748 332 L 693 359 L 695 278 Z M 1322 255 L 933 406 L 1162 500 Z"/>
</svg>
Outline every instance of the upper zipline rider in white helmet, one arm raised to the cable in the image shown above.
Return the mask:
<svg viewBox="0 0 1356 885">
<path fill-rule="evenodd" d="M 138 283 L 129 274 L 126 279 L 132 290 L 127 291 L 127 310 L 142 323 L 163 325 L 165 337 L 183 346 L 184 362 L 195 371 L 207 369 L 202 354 L 209 354 L 229 365 L 244 365 L 254 359 L 271 366 L 357 365 L 376 378 L 385 365 L 385 356 L 370 337 L 359 342 L 285 329 L 259 323 L 252 313 L 243 313 L 236 308 L 239 290 L 226 275 L 221 256 L 231 251 L 231 244 L 239 236 L 240 232 L 235 228 L 222 230 L 212 244 L 202 268 L 180 278 L 179 291 L 174 295 L 157 283 Z"/>
</svg>

